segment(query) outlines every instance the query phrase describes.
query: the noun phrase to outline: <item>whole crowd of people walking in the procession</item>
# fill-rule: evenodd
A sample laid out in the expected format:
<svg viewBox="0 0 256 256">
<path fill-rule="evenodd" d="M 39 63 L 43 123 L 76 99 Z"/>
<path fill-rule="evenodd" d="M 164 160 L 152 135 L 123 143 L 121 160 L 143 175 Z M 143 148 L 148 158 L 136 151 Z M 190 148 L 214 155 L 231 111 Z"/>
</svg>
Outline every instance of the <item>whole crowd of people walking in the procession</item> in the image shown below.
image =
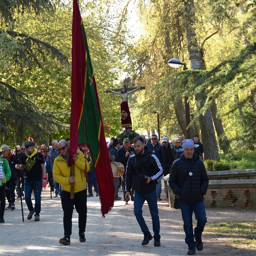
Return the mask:
<svg viewBox="0 0 256 256">
<path fill-rule="evenodd" d="M 168 137 L 159 142 L 156 134 L 146 139 L 144 135 L 135 137 L 133 145 L 129 138 L 119 141 L 112 138 L 107 143 L 111 162 L 122 163 L 125 172 L 122 177 L 113 177 L 115 184 L 114 200 L 118 201 L 118 192 L 122 190 L 125 204 L 134 201 L 134 215 L 143 232 L 142 245 L 154 238 L 154 246 L 160 246 L 160 220 L 157 201 L 161 201 L 161 179 L 169 175 L 169 185 L 177 195 L 184 222 L 185 242 L 189 247 L 188 255 L 203 249 L 201 235 L 207 222 L 203 196 L 207 192 L 208 176 L 201 161 L 204 148 L 198 135 L 194 140 L 184 140 L 183 136 L 175 140 Z M 0 157 L 0 223 L 4 223 L 5 210 L 15 210 L 15 192 L 17 198 L 25 198 L 29 214 L 27 219 L 40 221 L 41 192 L 47 183 L 54 197 L 61 198 L 64 212 L 64 237 L 61 244 L 70 244 L 72 233 L 73 209 L 79 214 L 79 241 L 84 242 L 87 221 L 87 197 L 96 196 L 99 189 L 96 173 L 88 148 L 78 148 L 73 154 L 74 175 L 70 176 L 67 165 L 70 156 L 70 139 L 52 141 L 52 146 L 37 145 L 27 141 L 16 146 L 15 152 L 8 145 L 1 146 Z M 86 168 L 85 168 L 86 166 Z M 84 170 L 90 177 L 86 180 Z M 70 199 L 70 187 L 74 183 L 74 198 Z M 87 194 L 88 188 L 88 194 Z M 9 205 L 6 207 L 6 198 Z M 35 199 L 33 206 L 32 200 Z M 152 217 L 153 236 L 142 215 L 142 207 L 147 201 Z M 193 231 L 192 213 L 195 213 L 197 227 Z"/>
</svg>

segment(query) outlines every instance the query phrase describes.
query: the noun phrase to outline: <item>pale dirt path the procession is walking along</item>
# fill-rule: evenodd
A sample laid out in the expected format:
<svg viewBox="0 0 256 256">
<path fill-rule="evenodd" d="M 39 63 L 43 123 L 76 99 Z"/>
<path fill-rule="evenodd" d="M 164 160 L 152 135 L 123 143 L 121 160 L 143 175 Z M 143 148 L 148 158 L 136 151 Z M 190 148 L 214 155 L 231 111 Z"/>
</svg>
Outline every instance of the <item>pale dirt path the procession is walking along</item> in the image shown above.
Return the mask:
<svg viewBox="0 0 256 256">
<path fill-rule="evenodd" d="M 119 196 L 121 195 L 122 193 L 119 193 Z M 179 256 L 187 253 L 181 212 L 170 209 L 165 198 L 158 203 L 161 247 L 154 247 L 153 240 L 147 246 L 141 246 L 143 234 L 133 213 L 133 202 L 124 205 L 123 201 L 116 201 L 114 208 L 104 219 L 100 213 L 99 198 L 96 198 L 95 194 L 93 198 L 88 198 L 86 242 L 79 242 L 78 214 L 74 210 L 73 234 L 68 246 L 59 244 L 59 239 L 64 233 L 61 199 L 50 199 L 49 189 L 42 192 L 42 209 L 38 222 L 34 221 L 34 217 L 27 220 L 28 209 L 24 201 L 25 221 L 22 222 L 20 202 L 16 201 L 15 204 L 14 211 L 5 211 L 6 223 L 0 224 L 0 255 Z M 255 209 L 246 209 L 244 212 L 240 210 L 206 209 L 207 225 L 218 221 L 255 220 Z M 152 232 L 147 204 L 143 207 L 143 215 Z M 227 241 L 221 238 L 203 236 L 203 241 L 204 250 L 197 251 L 197 255 L 256 255 L 255 248 L 230 247 Z"/>
</svg>

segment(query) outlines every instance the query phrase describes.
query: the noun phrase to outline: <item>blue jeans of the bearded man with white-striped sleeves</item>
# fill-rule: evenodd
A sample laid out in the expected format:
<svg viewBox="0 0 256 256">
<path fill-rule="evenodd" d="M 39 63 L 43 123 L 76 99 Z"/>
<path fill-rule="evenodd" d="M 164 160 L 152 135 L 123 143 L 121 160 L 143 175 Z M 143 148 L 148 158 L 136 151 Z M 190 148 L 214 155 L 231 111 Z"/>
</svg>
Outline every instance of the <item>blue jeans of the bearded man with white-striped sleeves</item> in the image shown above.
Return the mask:
<svg viewBox="0 0 256 256">
<path fill-rule="evenodd" d="M 160 238 L 160 221 L 157 208 L 157 193 L 153 190 L 150 193 L 141 194 L 135 191 L 134 194 L 134 215 L 140 225 L 141 231 L 145 234 L 150 233 L 142 215 L 142 207 L 145 202 L 148 202 L 149 211 L 152 218 L 154 237 Z"/>
</svg>

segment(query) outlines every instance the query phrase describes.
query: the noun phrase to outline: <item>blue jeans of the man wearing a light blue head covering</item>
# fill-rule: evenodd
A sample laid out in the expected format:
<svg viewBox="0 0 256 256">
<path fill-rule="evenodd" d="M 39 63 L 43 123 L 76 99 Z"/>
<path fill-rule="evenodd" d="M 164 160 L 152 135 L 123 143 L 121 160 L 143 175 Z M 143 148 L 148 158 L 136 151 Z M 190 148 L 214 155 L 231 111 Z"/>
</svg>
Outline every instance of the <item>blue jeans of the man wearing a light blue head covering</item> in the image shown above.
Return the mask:
<svg viewBox="0 0 256 256">
<path fill-rule="evenodd" d="M 193 234 L 192 215 L 195 213 L 195 219 L 198 221 L 195 227 L 195 237 L 201 237 L 204 231 L 204 226 L 207 223 L 206 213 L 204 209 L 204 200 L 195 204 L 179 202 L 182 219 L 184 222 L 183 228 L 186 234 L 185 242 L 189 247 L 195 247 L 195 240 Z"/>
</svg>

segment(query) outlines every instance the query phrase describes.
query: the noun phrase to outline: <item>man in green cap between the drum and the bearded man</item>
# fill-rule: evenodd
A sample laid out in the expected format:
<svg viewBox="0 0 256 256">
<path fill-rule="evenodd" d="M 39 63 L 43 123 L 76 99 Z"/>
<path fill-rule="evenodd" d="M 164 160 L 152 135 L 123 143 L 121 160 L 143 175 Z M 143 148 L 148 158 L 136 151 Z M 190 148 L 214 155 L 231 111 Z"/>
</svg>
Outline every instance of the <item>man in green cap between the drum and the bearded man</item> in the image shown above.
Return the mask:
<svg viewBox="0 0 256 256">
<path fill-rule="evenodd" d="M 119 149 L 119 151 L 117 151 L 117 158 L 116 158 L 116 162 L 122 163 L 125 166 L 125 172 L 126 172 L 126 166 L 127 166 L 127 162 L 129 157 L 134 154 L 134 148 L 130 146 L 130 139 L 129 138 L 125 138 L 123 140 L 124 146 L 122 148 Z M 122 176 L 122 190 L 124 192 L 124 201 L 125 204 L 128 204 L 128 201 L 125 200 L 125 173 Z M 131 201 L 134 201 L 134 190 L 131 193 Z"/>
</svg>

